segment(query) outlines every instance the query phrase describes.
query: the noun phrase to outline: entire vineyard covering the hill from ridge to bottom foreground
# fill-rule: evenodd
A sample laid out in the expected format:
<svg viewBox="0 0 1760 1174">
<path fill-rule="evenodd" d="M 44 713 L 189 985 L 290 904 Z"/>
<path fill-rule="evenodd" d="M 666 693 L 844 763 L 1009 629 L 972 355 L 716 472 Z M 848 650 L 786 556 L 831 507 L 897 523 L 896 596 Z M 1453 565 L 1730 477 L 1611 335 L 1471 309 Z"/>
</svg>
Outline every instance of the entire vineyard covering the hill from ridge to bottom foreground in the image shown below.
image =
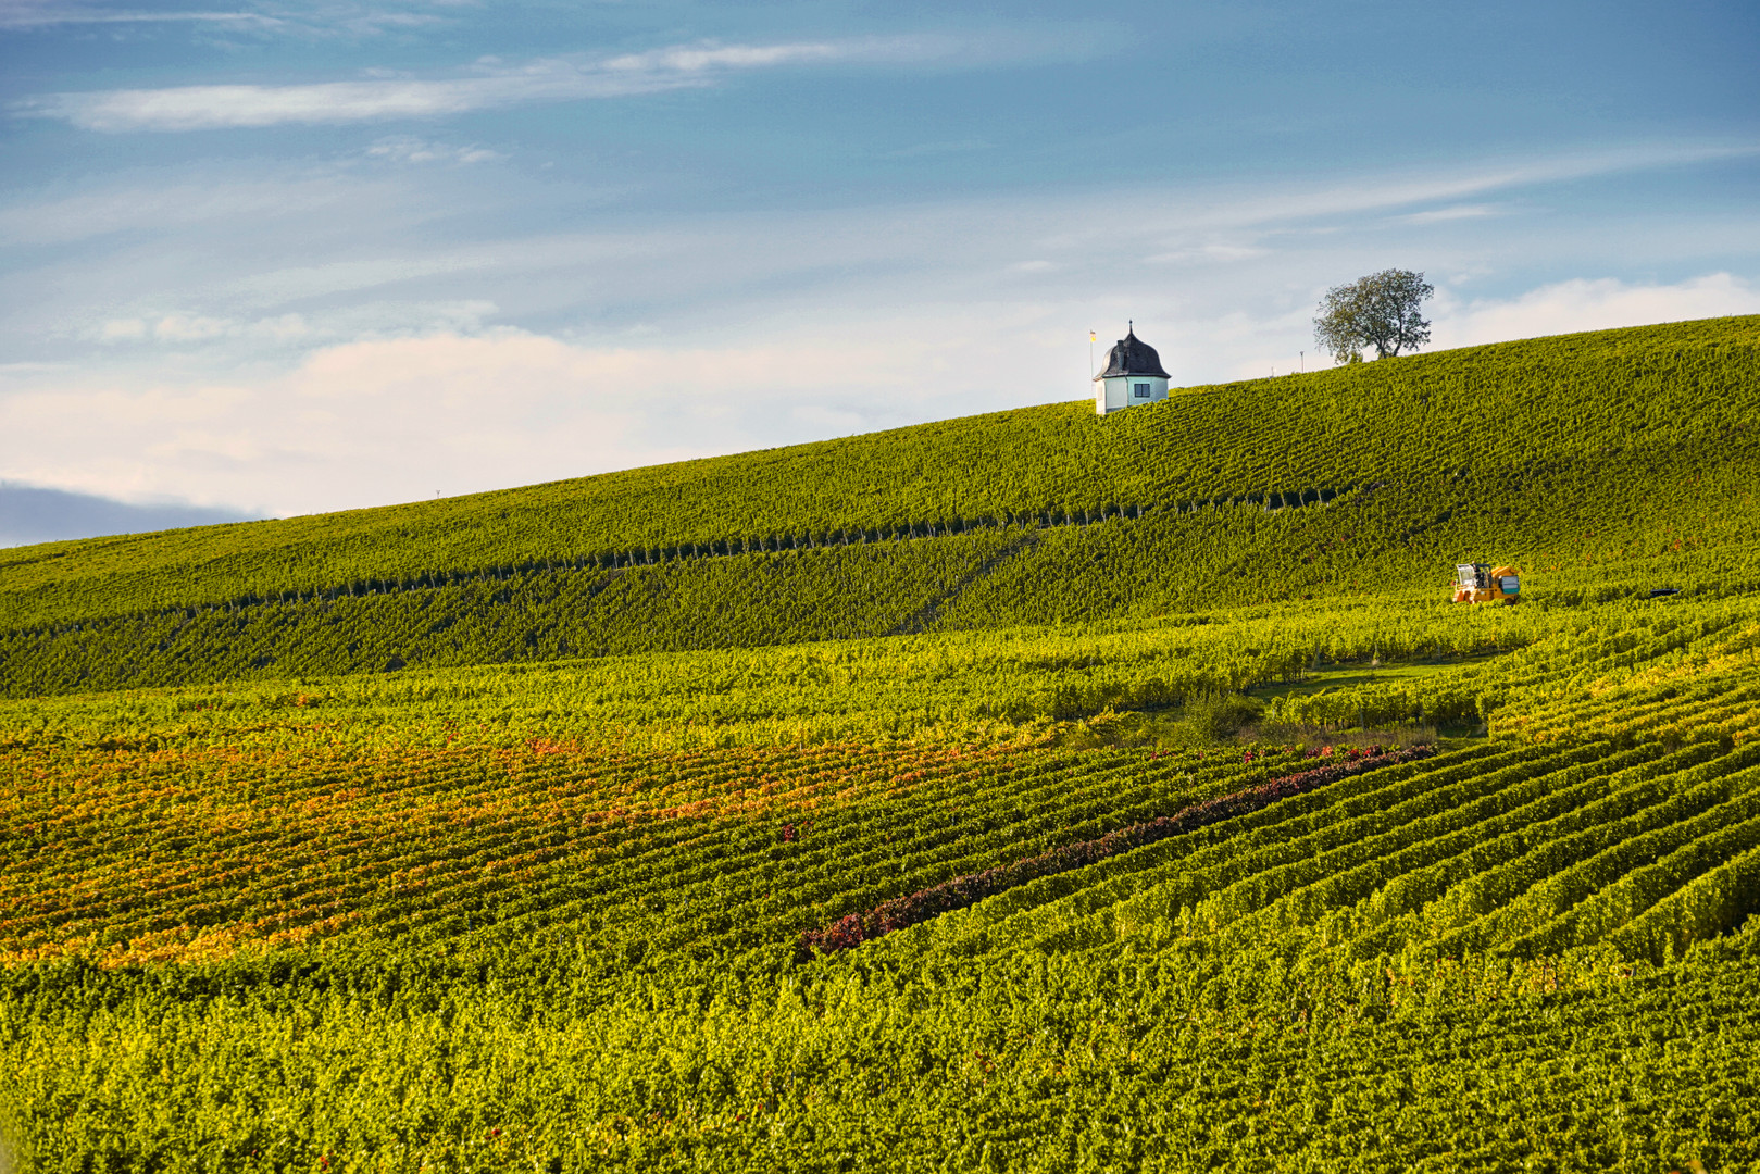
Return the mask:
<svg viewBox="0 0 1760 1174">
<path fill-rule="evenodd" d="M 7 553 L 0 1158 L 1760 1169 L 1756 331 Z"/>
</svg>

